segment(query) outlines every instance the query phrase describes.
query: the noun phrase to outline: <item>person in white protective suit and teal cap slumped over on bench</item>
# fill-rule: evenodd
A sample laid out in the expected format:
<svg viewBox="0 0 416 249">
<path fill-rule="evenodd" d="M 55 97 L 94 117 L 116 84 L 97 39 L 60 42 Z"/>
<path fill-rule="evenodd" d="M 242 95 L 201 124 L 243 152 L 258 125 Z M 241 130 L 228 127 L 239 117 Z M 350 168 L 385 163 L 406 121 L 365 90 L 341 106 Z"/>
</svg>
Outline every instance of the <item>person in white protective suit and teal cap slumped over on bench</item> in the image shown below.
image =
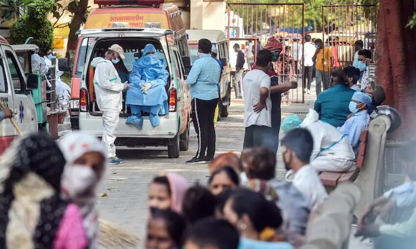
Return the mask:
<svg viewBox="0 0 416 249">
<path fill-rule="evenodd" d="M 303 122 L 297 115 L 287 117 L 283 120 L 281 129 L 287 133 L 298 126 L 312 134 L 314 146 L 309 165 L 317 172 L 347 172 L 352 169 L 355 154 L 347 136 L 334 126 L 319 120 L 319 114 L 315 110 L 309 109 Z M 286 176 L 290 180 L 290 171 Z"/>
</svg>

